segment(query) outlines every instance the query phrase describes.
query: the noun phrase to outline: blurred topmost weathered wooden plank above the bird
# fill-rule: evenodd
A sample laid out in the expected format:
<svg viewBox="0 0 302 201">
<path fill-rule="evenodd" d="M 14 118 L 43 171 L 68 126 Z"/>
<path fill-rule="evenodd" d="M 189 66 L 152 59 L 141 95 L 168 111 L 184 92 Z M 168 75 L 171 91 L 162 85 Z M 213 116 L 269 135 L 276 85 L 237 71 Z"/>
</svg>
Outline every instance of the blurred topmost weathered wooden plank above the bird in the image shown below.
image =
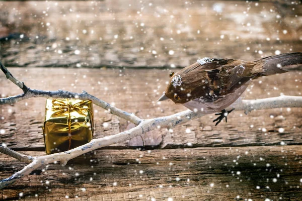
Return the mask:
<svg viewBox="0 0 302 201">
<path fill-rule="evenodd" d="M 286 1 L 2 1 L 0 7 L 0 59 L 7 66 L 184 67 L 202 57 L 251 60 L 302 51 L 302 5 Z"/>
</svg>

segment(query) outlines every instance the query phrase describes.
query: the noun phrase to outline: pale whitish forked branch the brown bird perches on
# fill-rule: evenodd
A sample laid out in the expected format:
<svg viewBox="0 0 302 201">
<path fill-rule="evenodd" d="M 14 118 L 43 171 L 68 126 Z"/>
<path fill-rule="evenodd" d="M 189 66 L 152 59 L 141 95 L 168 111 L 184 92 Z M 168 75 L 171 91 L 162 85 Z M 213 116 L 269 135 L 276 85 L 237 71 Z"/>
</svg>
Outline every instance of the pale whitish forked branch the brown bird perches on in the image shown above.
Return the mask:
<svg viewBox="0 0 302 201">
<path fill-rule="evenodd" d="M 3 69 L 5 69 L 5 71 Z M 9 73 L 9 77 L 13 77 L 11 75 L 11 73 L 5 67 L 2 68 L 2 70 L 5 73 Z M 14 78 L 13 80 L 17 80 L 17 79 Z M 20 82 L 18 82 L 18 83 L 20 83 Z M 16 82 L 17 85 L 18 85 L 18 83 Z M 25 85 L 23 84 L 23 87 L 24 86 Z M 74 97 L 74 98 L 80 98 L 80 99 L 91 99 L 95 105 L 100 106 L 106 110 L 110 110 L 110 112 L 112 114 L 117 115 L 123 119 L 126 119 L 126 120 L 136 124 L 137 126 L 130 130 L 127 130 L 127 131 L 124 131 L 124 132 L 121 132 L 121 133 L 118 133 L 118 134 L 115 134 L 112 136 L 103 137 L 103 138 L 99 138 L 99 139 L 93 139 L 92 141 L 90 141 L 89 143 L 87 143 L 85 145 L 79 146 L 77 148 L 74 148 L 74 149 L 71 149 L 71 150 L 68 150 L 65 152 L 55 153 L 55 154 L 51 154 L 51 155 L 38 156 L 38 157 L 24 156 L 11 149 L 0 146 L 0 152 L 13 156 L 14 158 L 17 158 L 20 161 L 30 162 L 22 170 L 16 172 L 11 177 L 0 181 L 0 189 L 6 187 L 10 183 L 13 183 L 14 181 L 16 181 L 17 179 L 19 179 L 23 176 L 29 175 L 33 170 L 39 168 L 42 165 L 49 164 L 49 163 L 56 163 L 58 161 L 61 163 L 61 165 L 65 165 L 68 160 L 78 157 L 87 152 L 99 149 L 101 147 L 109 146 L 112 144 L 124 142 L 126 140 L 129 140 L 136 136 L 142 135 L 142 134 L 144 134 L 148 131 L 154 130 L 156 128 L 160 128 L 160 127 L 173 128 L 173 127 L 177 126 L 178 124 L 182 124 L 182 123 L 188 122 L 192 119 L 196 119 L 196 118 L 199 118 L 199 117 L 202 117 L 205 115 L 202 113 L 194 113 L 190 110 L 186 110 L 186 111 L 176 113 L 176 114 L 173 114 L 170 116 L 142 120 L 132 114 L 124 112 L 115 107 L 112 107 L 108 103 L 104 102 L 103 100 L 100 100 L 97 97 L 90 95 L 86 92 L 72 93 L 72 92 L 62 91 L 62 90 L 42 91 L 42 90 L 34 90 L 34 89 L 30 89 L 30 88 L 27 88 L 27 91 L 24 91 L 23 94 L 20 94 L 17 96 L 12 96 L 12 97 L 7 97 L 7 98 L 0 98 L 0 105 L 16 103 L 16 102 L 19 102 L 23 99 L 27 99 L 30 97 L 52 97 L 52 98 Z M 233 108 L 235 108 L 236 111 L 245 111 L 246 113 L 250 112 L 252 110 L 284 108 L 284 107 L 286 107 L 286 108 L 287 107 L 302 107 L 302 97 L 283 95 L 283 96 L 274 97 L 274 98 L 264 98 L 264 99 L 258 99 L 258 100 L 244 100 L 242 103 L 233 106 Z"/>
</svg>

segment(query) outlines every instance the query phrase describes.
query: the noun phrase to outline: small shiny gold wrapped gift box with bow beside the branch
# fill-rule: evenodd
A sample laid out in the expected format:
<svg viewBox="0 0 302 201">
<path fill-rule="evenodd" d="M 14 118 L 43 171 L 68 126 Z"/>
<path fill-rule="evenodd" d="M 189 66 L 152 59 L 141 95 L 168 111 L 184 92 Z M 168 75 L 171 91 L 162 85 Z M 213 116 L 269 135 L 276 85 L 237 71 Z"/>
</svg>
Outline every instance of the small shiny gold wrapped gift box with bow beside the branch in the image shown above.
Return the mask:
<svg viewBox="0 0 302 201">
<path fill-rule="evenodd" d="M 47 99 L 43 135 L 47 154 L 90 142 L 93 136 L 92 101 Z"/>
</svg>

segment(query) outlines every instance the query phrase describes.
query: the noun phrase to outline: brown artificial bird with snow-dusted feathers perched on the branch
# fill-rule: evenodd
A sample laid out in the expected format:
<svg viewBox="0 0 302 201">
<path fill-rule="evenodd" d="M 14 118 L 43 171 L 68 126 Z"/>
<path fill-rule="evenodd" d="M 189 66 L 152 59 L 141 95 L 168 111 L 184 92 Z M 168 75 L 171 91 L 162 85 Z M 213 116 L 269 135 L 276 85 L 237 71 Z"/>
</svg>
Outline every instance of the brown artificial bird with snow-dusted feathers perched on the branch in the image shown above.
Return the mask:
<svg viewBox="0 0 302 201">
<path fill-rule="evenodd" d="M 171 99 L 194 112 L 211 114 L 220 112 L 213 122 L 217 126 L 234 111 L 226 111 L 234 102 L 241 102 L 241 95 L 251 80 L 262 76 L 285 73 L 289 67 L 302 64 L 302 53 L 284 53 L 244 61 L 240 59 L 198 59 L 180 71 L 170 73 L 170 81 L 159 101 Z"/>
</svg>

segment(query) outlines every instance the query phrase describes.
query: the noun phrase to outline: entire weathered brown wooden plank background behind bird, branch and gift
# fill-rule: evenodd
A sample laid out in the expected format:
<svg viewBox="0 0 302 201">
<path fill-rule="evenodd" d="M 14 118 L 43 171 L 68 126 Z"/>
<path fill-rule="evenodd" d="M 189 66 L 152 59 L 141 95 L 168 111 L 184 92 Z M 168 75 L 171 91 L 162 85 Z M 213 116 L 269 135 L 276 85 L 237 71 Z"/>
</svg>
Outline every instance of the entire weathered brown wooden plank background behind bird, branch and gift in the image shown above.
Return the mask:
<svg viewBox="0 0 302 201">
<path fill-rule="evenodd" d="M 276 50 L 302 51 L 302 7 L 286 1 L 34 1 L 0 6 L 0 59 L 13 75 L 35 89 L 86 90 L 140 118 L 185 110 L 172 102 L 156 103 L 169 73 L 179 70 L 174 65 L 184 67 L 204 56 L 251 60 Z M 77 64 L 82 68 L 75 68 Z M 63 68 L 67 66 L 71 68 Z M 1 74 L 0 86 L 3 97 L 21 92 Z M 245 98 L 301 95 L 301 87 L 301 71 L 294 70 L 253 81 Z M 0 142 L 21 153 L 45 154 L 44 110 L 44 98 L 0 106 L 0 130 L 5 131 Z M 94 138 L 129 126 L 103 109 L 94 110 Z M 208 115 L 173 132 L 161 128 L 64 167 L 50 164 L 35 170 L 0 190 L 0 199 L 301 200 L 301 112 L 235 111 L 228 123 L 216 127 L 214 115 Z M 1 179 L 25 165 L 3 154 L 0 161 Z"/>
</svg>

